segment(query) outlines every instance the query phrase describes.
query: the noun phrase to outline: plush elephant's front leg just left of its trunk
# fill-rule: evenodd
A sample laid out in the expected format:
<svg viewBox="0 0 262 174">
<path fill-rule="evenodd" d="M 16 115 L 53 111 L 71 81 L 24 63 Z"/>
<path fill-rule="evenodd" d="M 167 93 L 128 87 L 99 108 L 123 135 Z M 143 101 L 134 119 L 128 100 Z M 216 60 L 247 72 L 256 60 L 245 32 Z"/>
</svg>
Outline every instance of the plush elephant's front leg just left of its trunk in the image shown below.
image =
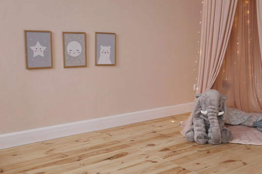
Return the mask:
<svg viewBox="0 0 262 174">
<path fill-rule="evenodd" d="M 205 123 L 204 119 L 201 118 L 194 118 L 193 120 L 194 123 L 194 140 L 198 144 L 204 145 L 207 143 L 207 134 L 206 134 L 206 128 L 205 128 Z"/>
</svg>

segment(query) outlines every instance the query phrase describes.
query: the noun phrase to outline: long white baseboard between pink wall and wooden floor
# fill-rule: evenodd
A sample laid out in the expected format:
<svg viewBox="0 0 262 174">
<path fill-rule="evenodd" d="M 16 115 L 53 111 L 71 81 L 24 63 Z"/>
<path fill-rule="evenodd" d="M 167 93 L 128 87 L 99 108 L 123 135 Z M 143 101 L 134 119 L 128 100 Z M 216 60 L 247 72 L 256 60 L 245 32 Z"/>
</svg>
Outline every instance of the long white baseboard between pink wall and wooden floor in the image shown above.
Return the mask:
<svg viewBox="0 0 262 174">
<path fill-rule="evenodd" d="M 0 134 L 0 149 L 191 112 L 194 102 Z"/>
</svg>

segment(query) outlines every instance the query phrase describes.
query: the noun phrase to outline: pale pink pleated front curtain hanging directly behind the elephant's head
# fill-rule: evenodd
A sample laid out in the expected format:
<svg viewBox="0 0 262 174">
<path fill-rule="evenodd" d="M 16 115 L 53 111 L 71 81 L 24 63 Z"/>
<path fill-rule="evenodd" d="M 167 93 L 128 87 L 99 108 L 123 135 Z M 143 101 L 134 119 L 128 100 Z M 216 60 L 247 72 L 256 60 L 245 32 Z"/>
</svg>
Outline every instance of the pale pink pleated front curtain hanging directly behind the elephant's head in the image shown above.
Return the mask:
<svg viewBox="0 0 262 174">
<path fill-rule="evenodd" d="M 199 55 L 198 91 L 211 89 L 227 49 L 237 0 L 204 0 Z M 192 125 L 192 115 L 182 122 L 182 135 Z"/>
</svg>

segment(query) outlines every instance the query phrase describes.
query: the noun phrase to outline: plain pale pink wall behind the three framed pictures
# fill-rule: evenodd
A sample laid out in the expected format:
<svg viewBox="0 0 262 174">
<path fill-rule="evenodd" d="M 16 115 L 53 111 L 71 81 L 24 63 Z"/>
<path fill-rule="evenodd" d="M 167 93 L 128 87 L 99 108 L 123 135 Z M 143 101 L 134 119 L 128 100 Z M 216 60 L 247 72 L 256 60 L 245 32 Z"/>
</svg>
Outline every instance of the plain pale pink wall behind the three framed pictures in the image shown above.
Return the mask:
<svg viewBox="0 0 262 174">
<path fill-rule="evenodd" d="M 0 0 L 0 134 L 194 101 L 201 0 Z M 50 30 L 53 69 L 26 70 L 24 29 Z M 63 68 L 62 31 L 87 34 L 87 68 Z M 94 66 L 95 31 L 116 66 Z"/>
</svg>

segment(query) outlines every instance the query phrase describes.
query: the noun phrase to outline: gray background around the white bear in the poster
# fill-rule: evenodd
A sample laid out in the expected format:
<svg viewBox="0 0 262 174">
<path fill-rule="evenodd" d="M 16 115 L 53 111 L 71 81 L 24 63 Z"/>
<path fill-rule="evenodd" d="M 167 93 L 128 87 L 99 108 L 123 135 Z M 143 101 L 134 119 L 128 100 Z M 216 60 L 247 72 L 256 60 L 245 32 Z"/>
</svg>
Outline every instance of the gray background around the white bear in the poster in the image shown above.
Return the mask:
<svg viewBox="0 0 262 174">
<path fill-rule="evenodd" d="M 115 64 L 115 34 L 99 34 L 97 33 L 97 64 L 100 57 L 101 45 L 111 46 L 110 48 L 110 60 L 112 64 Z"/>
</svg>

